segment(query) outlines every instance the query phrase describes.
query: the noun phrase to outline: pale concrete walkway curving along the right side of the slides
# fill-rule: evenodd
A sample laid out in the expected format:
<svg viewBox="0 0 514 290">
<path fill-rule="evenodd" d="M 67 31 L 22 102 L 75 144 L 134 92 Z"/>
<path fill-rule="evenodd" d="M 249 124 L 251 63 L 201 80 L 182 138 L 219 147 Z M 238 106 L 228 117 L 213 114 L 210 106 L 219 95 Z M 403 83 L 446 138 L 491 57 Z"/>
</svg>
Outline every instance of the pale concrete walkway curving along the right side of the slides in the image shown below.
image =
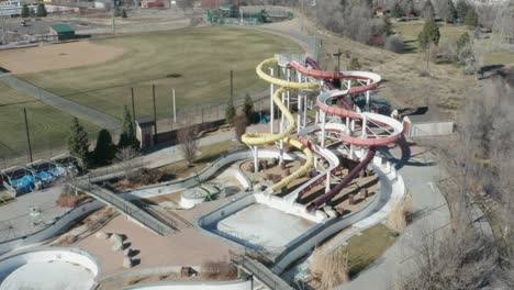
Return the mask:
<svg viewBox="0 0 514 290">
<path fill-rule="evenodd" d="M 396 157 L 401 156 L 399 148 L 393 149 L 391 154 Z M 420 234 L 420 228 L 437 233 L 449 226 L 448 205 L 433 182 L 437 178 L 438 168 L 433 164 L 429 155 L 415 148 L 409 161 L 399 166 L 405 186 L 412 193 L 414 222 L 373 265 L 349 283 L 336 289 L 394 289 L 394 283 L 399 279 L 398 274 L 406 274 L 413 268 L 411 263 L 413 263 L 415 252 L 411 245 Z"/>
</svg>

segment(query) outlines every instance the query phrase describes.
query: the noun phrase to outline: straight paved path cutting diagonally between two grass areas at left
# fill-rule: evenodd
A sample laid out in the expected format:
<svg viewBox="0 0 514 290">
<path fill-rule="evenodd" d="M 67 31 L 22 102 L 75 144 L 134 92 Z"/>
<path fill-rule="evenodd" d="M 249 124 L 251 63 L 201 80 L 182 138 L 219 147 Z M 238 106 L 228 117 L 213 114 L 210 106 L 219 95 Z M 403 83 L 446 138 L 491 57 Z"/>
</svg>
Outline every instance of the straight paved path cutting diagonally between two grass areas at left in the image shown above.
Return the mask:
<svg viewBox="0 0 514 290">
<path fill-rule="evenodd" d="M 27 92 L 29 94 L 33 96 L 35 99 L 46 104 L 49 104 L 52 107 L 55 107 L 63 112 L 67 112 L 74 116 L 86 120 L 100 127 L 115 131 L 115 130 L 119 130 L 121 126 L 120 120 L 111 115 L 108 115 L 105 113 L 99 112 L 89 107 L 82 105 L 80 103 L 70 101 L 60 96 L 57 96 L 55 93 L 41 89 L 11 74 L 0 75 L 0 81 L 4 82 L 5 85 L 8 85 L 9 87 L 13 89 Z"/>
</svg>

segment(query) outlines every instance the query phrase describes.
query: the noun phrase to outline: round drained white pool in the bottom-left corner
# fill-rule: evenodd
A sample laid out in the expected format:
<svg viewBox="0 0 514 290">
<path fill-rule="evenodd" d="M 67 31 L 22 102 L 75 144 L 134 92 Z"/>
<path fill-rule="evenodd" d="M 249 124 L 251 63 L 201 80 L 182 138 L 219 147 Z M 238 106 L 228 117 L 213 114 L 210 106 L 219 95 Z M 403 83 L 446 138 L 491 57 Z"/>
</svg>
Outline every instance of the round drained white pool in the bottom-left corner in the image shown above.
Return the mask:
<svg viewBox="0 0 514 290">
<path fill-rule="evenodd" d="M 0 290 L 89 290 L 98 266 L 83 250 L 44 248 L 10 254 L 0 260 Z"/>
</svg>

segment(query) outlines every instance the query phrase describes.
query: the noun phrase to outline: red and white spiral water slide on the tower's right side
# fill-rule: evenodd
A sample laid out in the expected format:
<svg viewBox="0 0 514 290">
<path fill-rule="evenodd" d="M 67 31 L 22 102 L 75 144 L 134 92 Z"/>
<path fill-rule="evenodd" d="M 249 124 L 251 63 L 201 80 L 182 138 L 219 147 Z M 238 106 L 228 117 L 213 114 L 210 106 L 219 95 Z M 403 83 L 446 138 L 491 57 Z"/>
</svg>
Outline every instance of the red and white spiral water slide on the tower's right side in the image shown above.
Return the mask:
<svg viewBox="0 0 514 290">
<path fill-rule="evenodd" d="M 297 69 L 303 75 L 317 79 L 323 79 L 327 90 L 321 93 L 317 98 L 317 107 L 325 114 L 347 118 L 348 121 L 351 120 L 351 127 L 348 126 L 349 122 L 347 122 L 346 126 L 343 124 L 325 123 L 325 116 L 323 115 L 323 124 L 321 126 L 320 124 L 316 124 L 314 126 L 306 127 L 303 134 L 316 131 L 323 131 L 324 134 L 325 131 L 336 131 L 339 133 L 343 142 L 353 146 L 369 148 L 368 153 L 360 160 L 360 163 L 347 176 L 345 176 L 345 178 L 343 178 L 337 186 L 335 186 L 328 192 L 319 197 L 308 205 L 308 210 L 313 211 L 316 210 L 320 205 L 333 199 L 348 183 L 351 182 L 351 180 L 358 175 L 360 170 L 368 166 L 368 164 L 373 159 L 375 154 L 377 153 L 376 146 L 387 145 L 399 141 L 402 137 L 403 126 L 400 122 L 392 118 L 375 113 L 356 112 L 351 110 L 351 105 L 344 100 L 344 97 L 346 96 L 367 92 L 369 90 L 378 88 L 381 81 L 379 75 L 367 71 L 323 71 L 321 70 L 316 62 L 314 62 L 313 59 L 306 58 L 305 63 L 311 68 L 302 66 L 301 64 L 295 62 L 291 62 L 289 66 Z M 331 82 L 331 80 L 333 79 L 358 80 L 360 83 L 364 85 L 354 88 L 350 87 L 347 90 L 337 90 L 335 89 L 335 86 Z M 340 100 L 340 104 L 343 108 L 332 107 L 333 100 Z M 356 134 L 355 121 L 361 122 L 360 135 Z M 373 131 L 375 129 L 379 129 L 380 133 L 377 134 Z M 302 142 L 302 144 L 308 146 L 309 141 L 306 141 L 303 137 L 300 137 L 300 141 Z M 360 157 L 362 156 L 364 154 Z"/>
</svg>

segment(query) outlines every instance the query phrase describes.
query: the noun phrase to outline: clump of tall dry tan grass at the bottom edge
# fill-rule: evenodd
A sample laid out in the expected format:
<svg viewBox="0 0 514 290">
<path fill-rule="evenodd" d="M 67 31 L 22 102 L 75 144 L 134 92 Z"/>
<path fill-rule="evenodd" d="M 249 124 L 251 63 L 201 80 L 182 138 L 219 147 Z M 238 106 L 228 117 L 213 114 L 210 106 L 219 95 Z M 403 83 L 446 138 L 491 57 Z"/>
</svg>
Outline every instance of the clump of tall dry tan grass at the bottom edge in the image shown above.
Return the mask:
<svg viewBox="0 0 514 290">
<path fill-rule="evenodd" d="M 328 290 L 347 282 L 348 252 L 346 249 L 325 253 L 323 248 L 314 249 L 311 274 L 316 289 Z"/>
</svg>

